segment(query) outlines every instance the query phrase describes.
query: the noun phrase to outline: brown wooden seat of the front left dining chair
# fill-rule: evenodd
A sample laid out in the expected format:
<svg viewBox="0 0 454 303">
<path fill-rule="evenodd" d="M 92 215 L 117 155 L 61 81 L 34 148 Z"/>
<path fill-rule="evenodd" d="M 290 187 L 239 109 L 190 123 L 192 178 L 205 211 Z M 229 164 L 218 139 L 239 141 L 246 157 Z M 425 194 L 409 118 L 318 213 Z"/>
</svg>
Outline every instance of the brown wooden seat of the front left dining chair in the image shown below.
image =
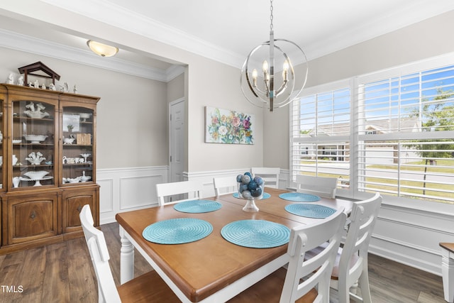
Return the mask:
<svg viewBox="0 0 454 303">
<path fill-rule="evenodd" d="M 181 302 L 164 280 L 152 270 L 117 287 L 121 302 Z"/>
</svg>

